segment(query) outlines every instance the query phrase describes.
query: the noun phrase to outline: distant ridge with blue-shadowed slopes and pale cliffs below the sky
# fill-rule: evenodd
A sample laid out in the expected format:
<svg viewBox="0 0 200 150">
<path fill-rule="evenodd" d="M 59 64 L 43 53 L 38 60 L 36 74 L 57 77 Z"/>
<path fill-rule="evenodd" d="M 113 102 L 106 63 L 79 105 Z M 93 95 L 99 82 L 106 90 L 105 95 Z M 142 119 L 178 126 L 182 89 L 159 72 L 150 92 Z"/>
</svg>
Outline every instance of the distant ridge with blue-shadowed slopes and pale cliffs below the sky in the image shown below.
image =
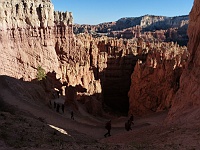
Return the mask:
<svg viewBox="0 0 200 150">
<path fill-rule="evenodd" d="M 93 36 L 106 35 L 117 38 L 156 38 L 162 42 L 177 42 L 186 46 L 188 42 L 188 16 L 164 17 L 145 15 L 141 17 L 121 18 L 116 22 L 98 25 L 74 25 L 74 33 L 90 33 Z"/>
</svg>

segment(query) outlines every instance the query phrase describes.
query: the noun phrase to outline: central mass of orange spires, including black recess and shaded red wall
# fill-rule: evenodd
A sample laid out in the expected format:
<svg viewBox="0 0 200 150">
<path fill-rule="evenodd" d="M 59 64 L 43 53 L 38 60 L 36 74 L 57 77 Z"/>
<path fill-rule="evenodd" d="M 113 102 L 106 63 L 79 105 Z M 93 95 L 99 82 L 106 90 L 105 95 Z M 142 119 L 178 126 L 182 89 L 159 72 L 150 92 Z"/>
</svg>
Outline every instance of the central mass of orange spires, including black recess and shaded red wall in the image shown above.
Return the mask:
<svg viewBox="0 0 200 150">
<path fill-rule="evenodd" d="M 89 51 L 91 70 L 101 81 L 106 105 L 135 115 L 171 107 L 189 56 L 186 47 L 153 42 L 153 37 L 152 42 L 149 37 L 127 40 L 89 34 L 79 34 L 77 39 Z"/>
</svg>

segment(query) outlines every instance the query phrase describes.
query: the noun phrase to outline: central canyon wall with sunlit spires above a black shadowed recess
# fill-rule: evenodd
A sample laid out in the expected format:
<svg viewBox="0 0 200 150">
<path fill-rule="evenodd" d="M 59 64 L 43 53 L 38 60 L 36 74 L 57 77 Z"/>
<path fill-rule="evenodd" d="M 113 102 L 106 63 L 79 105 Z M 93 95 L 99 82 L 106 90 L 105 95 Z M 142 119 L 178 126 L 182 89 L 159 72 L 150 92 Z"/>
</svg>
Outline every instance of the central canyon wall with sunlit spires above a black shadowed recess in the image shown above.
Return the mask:
<svg viewBox="0 0 200 150">
<path fill-rule="evenodd" d="M 137 41 L 131 43 L 132 40 L 106 36 L 93 38 L 90 34 L 78 34 L 76 37 L 90 54 L 90 69 L 95 79 L 101 81 L 103 104 L 127 113 L 130 76 L 138 59 Z"/>
</svg>

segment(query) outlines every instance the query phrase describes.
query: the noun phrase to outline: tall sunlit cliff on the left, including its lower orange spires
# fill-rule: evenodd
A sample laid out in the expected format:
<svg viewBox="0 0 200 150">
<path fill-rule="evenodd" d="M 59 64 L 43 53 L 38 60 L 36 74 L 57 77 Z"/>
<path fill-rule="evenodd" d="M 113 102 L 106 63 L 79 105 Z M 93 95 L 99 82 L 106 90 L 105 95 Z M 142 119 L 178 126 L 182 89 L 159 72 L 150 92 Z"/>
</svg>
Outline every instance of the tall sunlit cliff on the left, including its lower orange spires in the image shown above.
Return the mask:
<svg viewBox="0 0 200 150">
<path fill-rule="evenodd" d="M 72 13 L 54 12 L 49 0 L 3 0 L 0 9 L 0 75 L 31 81 L 41 66 L 67 86 L 101 93 L 90 54 L 73 34 Z"/>
</svg>

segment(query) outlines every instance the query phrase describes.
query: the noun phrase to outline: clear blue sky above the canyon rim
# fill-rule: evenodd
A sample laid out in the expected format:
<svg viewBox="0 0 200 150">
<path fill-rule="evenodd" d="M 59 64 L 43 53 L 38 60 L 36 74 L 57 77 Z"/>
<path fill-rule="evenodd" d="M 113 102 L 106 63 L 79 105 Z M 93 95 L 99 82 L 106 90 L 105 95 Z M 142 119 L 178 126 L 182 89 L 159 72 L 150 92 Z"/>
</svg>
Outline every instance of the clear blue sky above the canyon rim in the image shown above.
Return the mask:
<svg viewBox="0 0 200 150">
<path fill-rule="evenodd" d="M 74 23 L 99 24 L 122 17 L 189 14 L 194 0 L 51 0 L 54 9 L 73 13 Z"/>
</svg>

